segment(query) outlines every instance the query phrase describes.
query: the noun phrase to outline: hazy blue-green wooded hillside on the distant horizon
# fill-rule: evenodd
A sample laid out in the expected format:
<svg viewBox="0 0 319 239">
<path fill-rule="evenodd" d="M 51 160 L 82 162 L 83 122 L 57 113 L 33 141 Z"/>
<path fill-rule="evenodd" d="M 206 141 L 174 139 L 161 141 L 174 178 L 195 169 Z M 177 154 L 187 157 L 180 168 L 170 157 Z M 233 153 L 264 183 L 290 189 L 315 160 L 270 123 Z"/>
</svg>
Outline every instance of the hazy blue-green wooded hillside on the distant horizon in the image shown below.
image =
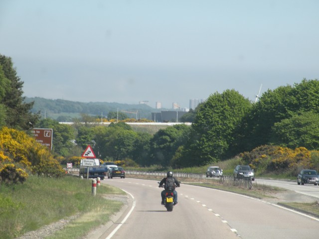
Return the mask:
<svg viewBox="0 0 319 239">
<path fill-rule="evenodd" d="M 25 98 L 25 102 L 29 103 L 34 101 L 31 112 L 41 112 L 44 118 L 57 119 L 59 116 L 68 116 L 70 118 L 80 118 L 81 114 L 91 116 L 107 116 L 109 112 L 124 112 L 130 118 L 138 119 L 152 119 L 152 112 L 160 112 L 163 109 L 154 109 L 146 104 L 129 105 L 120 103 L 108 102 L 73 102 L 66 100 L 48 100 L 40 97 Z M 131 112 L 131 113 L 128 113 Z M 136 113 L 137 112 L 137 113 Z"/>
</svg>

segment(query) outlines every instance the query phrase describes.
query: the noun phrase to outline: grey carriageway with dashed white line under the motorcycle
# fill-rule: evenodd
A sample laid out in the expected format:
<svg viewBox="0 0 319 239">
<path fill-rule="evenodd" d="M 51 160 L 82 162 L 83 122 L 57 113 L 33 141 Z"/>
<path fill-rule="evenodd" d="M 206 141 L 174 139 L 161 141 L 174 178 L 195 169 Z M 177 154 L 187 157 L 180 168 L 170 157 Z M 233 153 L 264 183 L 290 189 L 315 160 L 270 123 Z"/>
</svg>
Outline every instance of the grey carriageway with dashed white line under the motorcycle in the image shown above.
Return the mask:
<svg viewBox="0 0 319 239">
<path fill-rule="evenodd" d="M 319 234 L 319 219 L 231 192 L 182 184 L 177 189 L 178 205 L 166 212 L 156 181 L 113 178 L 101 183 L 119 187 L 133 198 L 132 213 L 100 239 L 300 239 Z"/>
</svg>

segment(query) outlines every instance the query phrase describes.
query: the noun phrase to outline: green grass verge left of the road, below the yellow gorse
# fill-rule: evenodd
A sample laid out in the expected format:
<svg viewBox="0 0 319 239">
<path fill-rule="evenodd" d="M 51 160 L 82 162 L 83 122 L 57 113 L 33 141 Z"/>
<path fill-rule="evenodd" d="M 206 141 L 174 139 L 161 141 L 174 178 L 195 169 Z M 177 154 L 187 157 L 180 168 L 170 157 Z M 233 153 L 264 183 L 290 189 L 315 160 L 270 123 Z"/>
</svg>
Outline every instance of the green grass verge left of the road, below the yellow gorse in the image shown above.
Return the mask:
<svg viewBox="0 0 319 239">
<path fill-rule="evenodd" d="M 108 194 L 125 193 L 102 184 L 94 197 L 91 180 L 70 176 L 58 179 L 30 176 L 24 184 L 1 184 L 0 238 L 15 238 L 74 215 L 78 215 L 77 219 L 51 238 L 84 236 L 106 223 L 122 207 L 120 202 L 105 199 Z"/>
</svg>

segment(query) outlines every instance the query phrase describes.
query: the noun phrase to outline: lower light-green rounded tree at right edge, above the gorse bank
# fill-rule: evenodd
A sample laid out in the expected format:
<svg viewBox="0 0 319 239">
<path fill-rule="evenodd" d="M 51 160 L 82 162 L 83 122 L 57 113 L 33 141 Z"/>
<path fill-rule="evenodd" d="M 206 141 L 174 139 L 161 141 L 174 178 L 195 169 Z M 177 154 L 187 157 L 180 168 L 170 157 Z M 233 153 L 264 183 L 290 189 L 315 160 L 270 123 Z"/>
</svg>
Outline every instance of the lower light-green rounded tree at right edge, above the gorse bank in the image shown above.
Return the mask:
<svg viewBox="0 0 319 239">
<path fill-rule="evenodd" d="M 304 112 L 290 119 L 283 119 L 272 127 L 272 143 L 295 149 L 319 148 L 319 114 Z"/>
</svg>

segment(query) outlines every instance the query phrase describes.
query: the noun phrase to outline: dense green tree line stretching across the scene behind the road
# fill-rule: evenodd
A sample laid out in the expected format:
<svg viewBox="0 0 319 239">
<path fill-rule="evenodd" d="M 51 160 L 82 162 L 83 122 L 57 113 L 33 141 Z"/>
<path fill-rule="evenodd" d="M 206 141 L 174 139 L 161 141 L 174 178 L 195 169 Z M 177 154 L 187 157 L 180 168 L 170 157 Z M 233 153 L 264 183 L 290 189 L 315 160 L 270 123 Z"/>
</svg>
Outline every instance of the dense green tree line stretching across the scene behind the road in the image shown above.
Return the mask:
<svg viewBox="0 0 319 239">
<path fill-rule="evenodd" d="M 191 126 L 168 126 L 155 134 L 134 131 L 124 122 L 98 126 L 39 120 L 31 113 L 33 103 L 24 103 L 22 86 L 11 59 L 0 56 L 0 126 L 53 128 L 56 157 L 80 154 L 90 144 L 103 160 L 185 167 L 224 160 L 261 145 L 319 147 L 317 79 L 268 90 L 256 103 L 235 90 L 216 92 L 184 116 L 184 121 L 193 122 Z M 110 118 L 115 117 L 112 114 Z"/>
</svg>

